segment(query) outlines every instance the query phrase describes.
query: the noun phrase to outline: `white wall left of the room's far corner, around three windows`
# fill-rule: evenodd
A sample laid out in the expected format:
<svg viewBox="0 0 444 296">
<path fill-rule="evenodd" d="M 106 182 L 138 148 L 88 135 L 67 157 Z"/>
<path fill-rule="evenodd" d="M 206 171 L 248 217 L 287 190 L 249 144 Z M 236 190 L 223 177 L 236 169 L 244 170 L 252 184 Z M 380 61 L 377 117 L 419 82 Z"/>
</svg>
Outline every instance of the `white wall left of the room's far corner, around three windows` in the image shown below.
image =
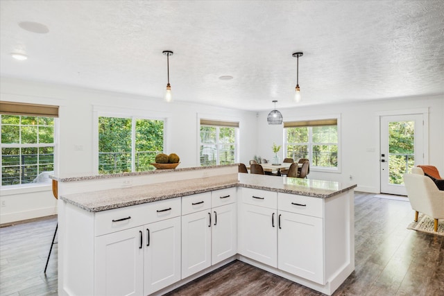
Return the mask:
<svg viewBox="0 0 444 296">
<path fill-rule="evenodd" d="M 180 167 L 198 164 L 198 114 L 210 119 L 239 121 L 240 161 L 248 162 L 256 143 L 256 112 L 230 110 L 191 103 L 164 103 L 162 98 L 146 98 L 64 85 L 49 85 L 13 78 L 1 78 L 1 100 L 59 105 L 59 166 L 56 175 L 91 175 L 94 172 L 93 148 L 94 109 L 133 110 L 134 112 L 167 114 L 166 153 L 180 156 Z M 176 94 L 177 96 L 177 94 Z M 75 149 L 79 146 L 83 150 Z M 55 198 L 51 187 L 38 193 L 1 190 L 0 223 L 55 213 Z"/>
</svg>

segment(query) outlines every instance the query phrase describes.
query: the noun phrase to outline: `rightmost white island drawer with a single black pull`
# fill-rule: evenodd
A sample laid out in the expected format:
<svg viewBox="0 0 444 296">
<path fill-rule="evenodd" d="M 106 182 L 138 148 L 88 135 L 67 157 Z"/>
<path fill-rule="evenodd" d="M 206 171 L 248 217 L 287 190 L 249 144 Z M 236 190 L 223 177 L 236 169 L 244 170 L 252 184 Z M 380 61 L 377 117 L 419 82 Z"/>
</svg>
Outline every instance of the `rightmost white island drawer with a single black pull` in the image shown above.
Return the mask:
<svg viewBox="0 0 444 296">
<path fill-rule="evenodd" d="M 288 193 L 278 194 L 278 209 L 323 218 L 323 199 Z"/>
</svg>

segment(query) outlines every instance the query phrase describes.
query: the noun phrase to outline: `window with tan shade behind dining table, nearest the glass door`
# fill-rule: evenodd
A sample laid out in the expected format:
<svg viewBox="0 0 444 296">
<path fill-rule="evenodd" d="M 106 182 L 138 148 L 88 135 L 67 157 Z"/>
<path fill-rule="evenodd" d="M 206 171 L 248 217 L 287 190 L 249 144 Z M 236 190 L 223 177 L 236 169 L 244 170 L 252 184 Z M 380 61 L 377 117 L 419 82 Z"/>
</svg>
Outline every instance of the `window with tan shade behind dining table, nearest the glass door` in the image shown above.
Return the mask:
<svg viewBox="0 0 444 296">
<path fill-rule="evenodd" d="M 314 168 L 338 168 L 337 119 L 284 123 L 286 157 L 307 158 Z"/>
</svg>

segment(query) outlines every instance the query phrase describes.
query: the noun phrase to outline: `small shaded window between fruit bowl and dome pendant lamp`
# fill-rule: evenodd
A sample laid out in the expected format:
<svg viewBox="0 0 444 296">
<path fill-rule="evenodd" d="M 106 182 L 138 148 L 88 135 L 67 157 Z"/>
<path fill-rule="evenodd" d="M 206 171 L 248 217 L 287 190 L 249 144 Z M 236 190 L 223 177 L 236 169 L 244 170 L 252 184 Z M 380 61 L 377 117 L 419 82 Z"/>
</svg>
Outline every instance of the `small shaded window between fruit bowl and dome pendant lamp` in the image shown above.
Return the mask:
<svg viewBox="0 0 444 296">
<path fill-rule="evenodd" d="M 239 123 L 200 119 L 200 166 L 237 162 Z"/>
</svg>

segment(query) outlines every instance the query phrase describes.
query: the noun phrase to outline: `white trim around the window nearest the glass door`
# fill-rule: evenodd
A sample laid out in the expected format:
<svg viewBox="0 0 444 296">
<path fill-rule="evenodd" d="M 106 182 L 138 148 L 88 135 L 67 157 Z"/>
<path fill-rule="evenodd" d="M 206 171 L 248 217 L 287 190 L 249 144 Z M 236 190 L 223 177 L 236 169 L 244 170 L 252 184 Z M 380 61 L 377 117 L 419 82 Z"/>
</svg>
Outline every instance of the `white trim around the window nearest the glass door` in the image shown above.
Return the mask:
<svg viewBox="0 0 444 296">
<path fill-rule="evenodd" d="M 338 129 L 338 166 L 336 168 L 323 168 L 319 166 L 311 166 L 310 171 L 323 172 L 323 173 L 342 173 L 342 149 L 341 149 L 341 114 L 325 114 L 325 115 L 315 115 L 315 116 L 298 116 L 298 117 L 287 117 L 286 122 L 290 121 L 314 121 L 322 119 L 336 119 L 337 129 Z M 282 129 L 282 138 L 284 143 L 284 156 L 287 155 L 287 128 Z M 313 143 L 311 142 L 311 145 Z M 312 151 L 310 151 L 312 153 Z M 311 155 L 312 156 L 312 155 Z"/>
</svg>

